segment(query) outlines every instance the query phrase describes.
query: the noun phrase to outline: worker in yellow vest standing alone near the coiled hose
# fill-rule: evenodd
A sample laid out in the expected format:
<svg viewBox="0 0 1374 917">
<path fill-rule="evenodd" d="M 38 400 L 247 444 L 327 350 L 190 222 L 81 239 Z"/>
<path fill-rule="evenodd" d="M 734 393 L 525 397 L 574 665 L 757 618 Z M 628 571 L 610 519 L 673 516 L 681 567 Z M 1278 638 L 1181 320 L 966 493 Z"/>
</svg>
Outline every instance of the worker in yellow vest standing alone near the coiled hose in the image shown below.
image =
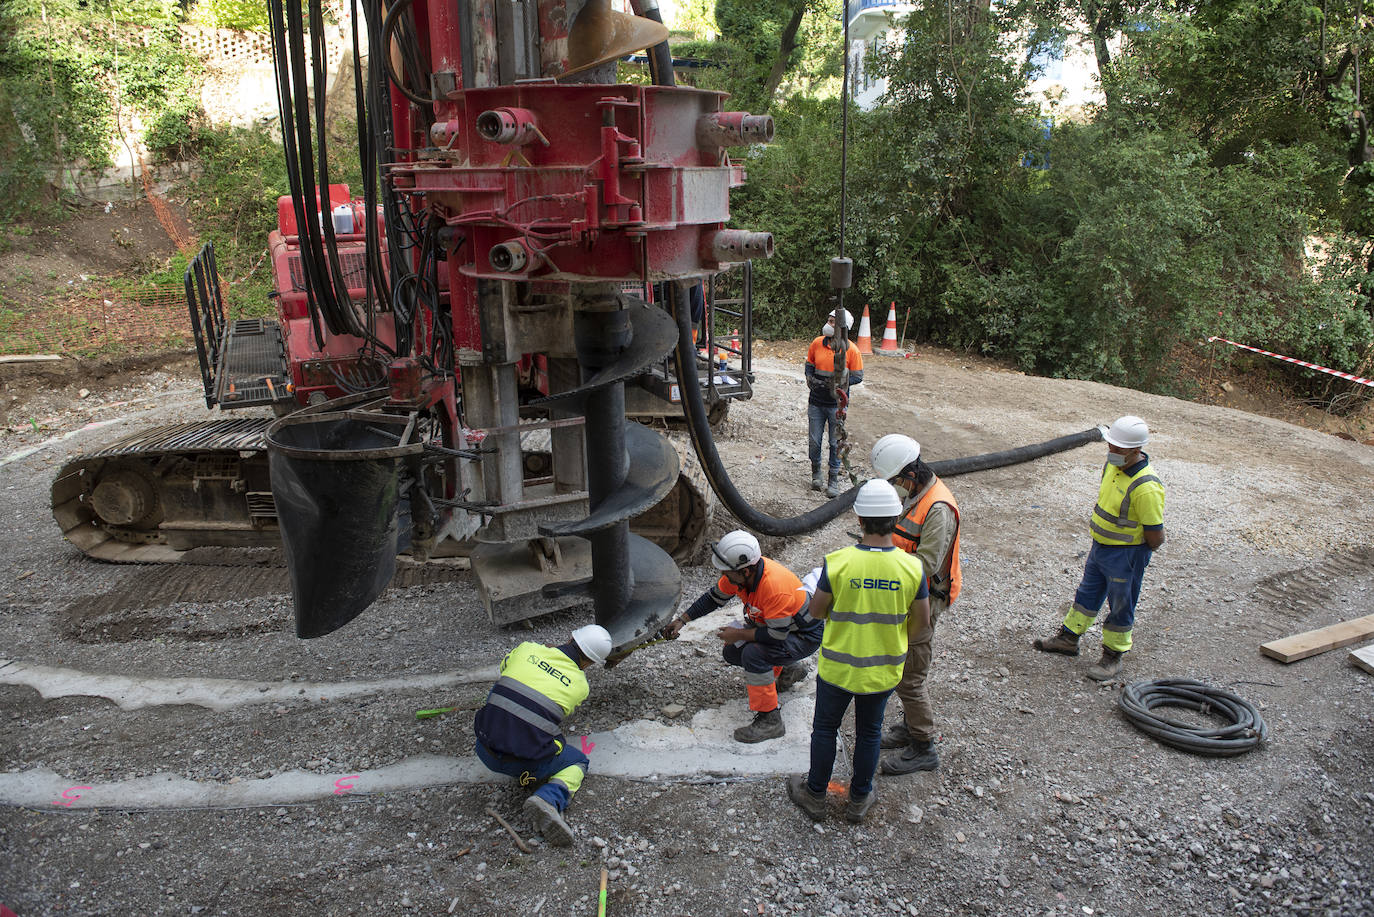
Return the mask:
<svg viewBox="0 0 1374 917">
<path fill-rule="evenodd" d="M 1079 638 L 1092 627 L 1106 599 L 1112 610 L 1102 624 L 1102 659 L 1087 672 L 1099 682 L 1121 671 L 1121 657 L 1131 649 L 1145 568 L 1164 544 L 1164 484 L 1142 451 L 1150 441 L 1149 428 L 1140 418 L 1127 415 L 1117 418 L 1102 439 L 1107 441 L 1107 463 L 1088 521 L 1092 546 L 1083 582 L 1059 632 L 1035 641 L 1035 648 L 1044 653 L 1077 656 Z"/>
</svg>

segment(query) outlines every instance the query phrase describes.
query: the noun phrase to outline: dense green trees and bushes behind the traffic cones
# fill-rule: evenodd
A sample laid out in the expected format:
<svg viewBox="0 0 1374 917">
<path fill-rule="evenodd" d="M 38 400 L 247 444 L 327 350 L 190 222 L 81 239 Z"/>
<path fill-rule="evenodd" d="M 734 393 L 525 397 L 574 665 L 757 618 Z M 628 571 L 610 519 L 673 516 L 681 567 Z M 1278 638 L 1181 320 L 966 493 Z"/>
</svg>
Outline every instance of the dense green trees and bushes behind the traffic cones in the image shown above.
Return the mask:
<svg viewBox="0 0 1374 917">
<path fill-rule="evenodd" d="M 1213 334 L 1369 368 L 1374 146 L 1353 8 L 914 7 L 870 60 L 886 96 L 851 120 L 861 300 L 908 308 L 916 337 L 1154 390 L 1175 390 L 1173 360 Z M 1024 48 L 1070 25 L 1098 40 L 1107 103 L 1048 124 L 1026 100 Z M 782 103 L 738 209 L 778 242 L 757 275 L 761 327 L 798 334 L 826 305 L 840 219 L 838 117 L 789 117 L 807 110 Z M 1344 384 L 1329 378 L 1294 375 L 1331 401 Z"/>
</svg>

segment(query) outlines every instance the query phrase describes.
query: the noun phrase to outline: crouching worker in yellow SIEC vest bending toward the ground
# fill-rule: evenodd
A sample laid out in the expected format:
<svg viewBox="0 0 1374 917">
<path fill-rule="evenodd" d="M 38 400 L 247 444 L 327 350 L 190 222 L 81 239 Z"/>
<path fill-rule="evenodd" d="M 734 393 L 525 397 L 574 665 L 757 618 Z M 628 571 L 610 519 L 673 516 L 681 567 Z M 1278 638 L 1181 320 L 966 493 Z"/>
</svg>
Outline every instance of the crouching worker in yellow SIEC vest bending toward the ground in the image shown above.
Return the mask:
<svg viewBox="0 0 1374 917">
<path fill-rule="evenodd" d="M 525 800 L 525 811 L 558 847 L 573 843 L 563 810 L 589 763 L 563 738 L 561 723 L 591 692 L 583 671 L 605 663 L 610 650 L 610 634 L 600 624 L 578 627 L 559 646 L 521 643 L 502 660 L 502 676 L 473 725 L 477 756 L 489 770 L 521 786 L 543 784 Z"/>
</svg>

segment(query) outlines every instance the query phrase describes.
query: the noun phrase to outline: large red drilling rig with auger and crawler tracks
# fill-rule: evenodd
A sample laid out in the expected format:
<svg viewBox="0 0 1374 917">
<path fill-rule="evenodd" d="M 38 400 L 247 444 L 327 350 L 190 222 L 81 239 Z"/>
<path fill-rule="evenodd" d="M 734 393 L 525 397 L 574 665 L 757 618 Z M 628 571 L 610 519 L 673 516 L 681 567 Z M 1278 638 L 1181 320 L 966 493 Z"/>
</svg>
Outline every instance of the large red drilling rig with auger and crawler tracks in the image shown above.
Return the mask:
<svg viewBox="0 0 1374 917">
<path fill-rule="evenodd" d="M 330 179 L 311 91 L 320 0 L 269 11 L 291 177 L 271 242 L 278 320 L 224 322 L 213 250 L 187 290 L 207 404 L 279 418 L 80 456 L 52 487 L 63 532 L 135 562 L 279 539 L 301 637 L 365 609 L 398 553 L 475 542 L 493 620 L 589 598 L 632 648 L 680 599 L 660 544 L 703 520 L 692 495 L 671 499 L 680 454 L 627 421 L 627 388 L 679 393 L 662 371 L 676 348 L 692 440 L 709 439 L 690 289 L 771 254 L 768 234 L 727 228 L 743 180 L 727 150 L 768 142 L 771 120 L 673 85 L 654 0 L 359 0 L 354 201 Z M 653 84 L 616 82 L 643 49 Z M 743 324 L 747 341 L 747 309 Z M 708 401 L 717 385 L 747 395 L 747 364 L 710 368 L 738 348 L 705 344 Z M 650 510 L 658 543 L 632 531 Z"/>
</svg>

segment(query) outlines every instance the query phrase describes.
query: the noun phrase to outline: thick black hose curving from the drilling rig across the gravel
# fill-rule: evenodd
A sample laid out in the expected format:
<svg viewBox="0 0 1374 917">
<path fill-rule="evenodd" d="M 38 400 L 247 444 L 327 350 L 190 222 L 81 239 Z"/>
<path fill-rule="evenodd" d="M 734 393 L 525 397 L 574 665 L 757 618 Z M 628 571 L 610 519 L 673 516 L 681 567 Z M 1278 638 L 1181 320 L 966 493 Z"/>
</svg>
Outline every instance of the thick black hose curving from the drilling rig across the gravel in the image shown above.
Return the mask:
<svg viewBox="0 0 1374 917">
<path fill-rule="evenodd" d="M 677 349 L 673 351 L 673 367 L 680 384 L 683 414 L 687 417 L 687 434 L 691 437 L 692 448 L 697 450 L 702 472 L 706 474 L 706 480 L 710 481 L 710 489 L 716 492 L 716 496 L 725 505 L 725 509 L 756 532 L 787 538 L 815 532 L 853 506 L 855 495 L 859 491 L 857 487 L 801 516 L 789 518 L 768 516 L 749 505 L 749 500 L 745 499 L 730 480 L 730 473 L 725 472 L 725 465 L 720 461 L 720 454 L 716 451 L 716 440 L 710 434 L 710 422 L 706 419 L 706 406 L 701 400 L 701 382 L 697 375 L 697 346 L 691 340 L 691 305 L 687 301 L 686 283 L 677 282 L 672 285 L 672 304 L 673 316 L 677 319 Z M 1061 436 L 1047 443 L 1022 445 L 1003 452 L 988 452 L 987 455 L 970 455 L 945 462 L 932 462 L 930 467 L 941 477 L 969 474 L 970 472 L 984 472 L 1004 465 L 1029 462 L 1052 455 L 1054 452 L 1087 445 L 1101 439 L 1102 430 L 1092 428 L 1081 433 Z"/>
</svg>

